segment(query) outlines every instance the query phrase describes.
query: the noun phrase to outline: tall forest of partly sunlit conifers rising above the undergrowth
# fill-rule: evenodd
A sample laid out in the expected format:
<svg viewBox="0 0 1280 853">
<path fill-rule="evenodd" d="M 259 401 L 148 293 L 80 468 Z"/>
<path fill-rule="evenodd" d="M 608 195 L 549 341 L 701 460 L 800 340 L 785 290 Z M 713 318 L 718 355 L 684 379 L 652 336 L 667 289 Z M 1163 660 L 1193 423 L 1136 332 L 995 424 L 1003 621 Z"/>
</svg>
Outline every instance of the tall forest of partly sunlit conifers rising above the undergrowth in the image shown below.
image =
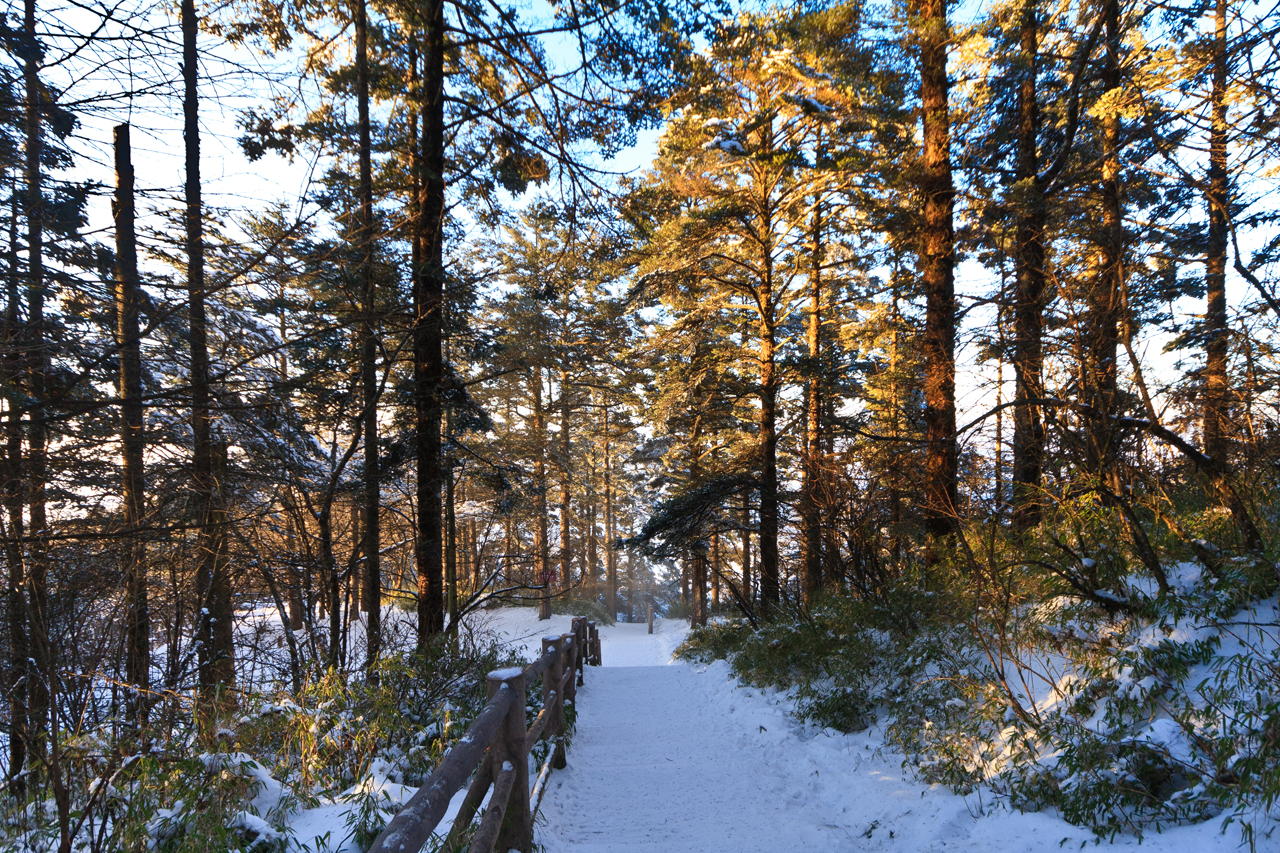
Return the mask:
<svg viewBox="0 0 1280 853">
<path fill-rule="evenodd" d="M 495 601 L 1272 589 L 1280 15 L 972 14 L 6 6 L 9 790 Z"/>
</svg>

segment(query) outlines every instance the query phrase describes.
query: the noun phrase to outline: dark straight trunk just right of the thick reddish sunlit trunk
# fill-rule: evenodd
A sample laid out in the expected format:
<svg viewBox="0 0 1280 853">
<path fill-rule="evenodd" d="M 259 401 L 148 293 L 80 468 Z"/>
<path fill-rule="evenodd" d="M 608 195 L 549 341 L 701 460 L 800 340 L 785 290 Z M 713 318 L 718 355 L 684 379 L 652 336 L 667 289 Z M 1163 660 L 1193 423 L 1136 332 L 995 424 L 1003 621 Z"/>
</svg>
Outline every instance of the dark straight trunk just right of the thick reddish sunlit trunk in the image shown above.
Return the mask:
<svg viewBox="0 0 1280 853">
<path fill-rule="evenodd" d="M 1036 0 L 1021 13 L 1021 82 L 1018 88 L 1018 182 L 1023 195 L 1016 233 L 1014 298 L 1014 470 L 1012 516 L 1019 528 L 1039 523 L 1044 426 L 1044 187 L 1039 179 L 1039 104 L 1036 95 L 1039 56 Z"/>
</svg>

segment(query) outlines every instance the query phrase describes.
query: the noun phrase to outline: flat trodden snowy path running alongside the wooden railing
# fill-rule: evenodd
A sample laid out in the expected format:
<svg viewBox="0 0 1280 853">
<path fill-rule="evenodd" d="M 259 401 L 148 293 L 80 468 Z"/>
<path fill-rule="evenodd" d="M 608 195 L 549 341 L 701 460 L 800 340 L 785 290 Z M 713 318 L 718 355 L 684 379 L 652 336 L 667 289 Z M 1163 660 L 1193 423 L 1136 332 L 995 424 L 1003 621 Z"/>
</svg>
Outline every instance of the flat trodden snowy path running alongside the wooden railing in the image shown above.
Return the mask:
<svg viewBox="0 0 1280 853">
<path fill-rule="evenodd" d="M 860 849 L 810 804 L 819 775 L 771 772 L 746 726 L 767 729 L 726 719 L 700 680 L 684 665 L 588 672 L 570 766 L 543 803 L 548 853 Z"/>
</svg>

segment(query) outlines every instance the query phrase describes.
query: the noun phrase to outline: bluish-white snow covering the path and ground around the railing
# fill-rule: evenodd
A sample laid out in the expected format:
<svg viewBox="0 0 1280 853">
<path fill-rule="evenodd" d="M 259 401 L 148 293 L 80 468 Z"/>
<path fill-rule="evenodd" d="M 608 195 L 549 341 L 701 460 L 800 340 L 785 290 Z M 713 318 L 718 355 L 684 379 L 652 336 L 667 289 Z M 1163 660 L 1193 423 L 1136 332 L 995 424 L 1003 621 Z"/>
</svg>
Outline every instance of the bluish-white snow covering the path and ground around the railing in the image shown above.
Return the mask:
<svg viewBox="0 0 1280 853">
<path fill-rule="evenodd" d="M 531 608 L 513 608 L 477 621 L 532 656 L 543 637 L 567 631 L 571 617 L 545 622 Z M 1010 812 L 913 780 L 876 727 L 844 735 L 799 725 L 785 695 L 739 686 L 723 661 L 672 662 L 686 633 L 671 621 L 658 621 L 653 635 L 643 624 L 600 626 L 604 666 L 586 671 L 568 767 L 553 774 L 538 818 L 536 841 L 547 853 L 1014 853 L 1093 841 L 1055 815 Z M 384 790 L 393 800 L 412 794 L 389 784 Z M 293 849 L 323 849 L 315 839 L 328 833 L 329 849 L 355 850 L 343 843 L 348 811 L 300 812 Z M 1148 834 L 1142 844 L 1226 853 L 1240 849 L 1240 834 L 1219 818 Z M 1280 839 L 1260 838 L 1257 849 L 1280 850 Z"/>
</svg>

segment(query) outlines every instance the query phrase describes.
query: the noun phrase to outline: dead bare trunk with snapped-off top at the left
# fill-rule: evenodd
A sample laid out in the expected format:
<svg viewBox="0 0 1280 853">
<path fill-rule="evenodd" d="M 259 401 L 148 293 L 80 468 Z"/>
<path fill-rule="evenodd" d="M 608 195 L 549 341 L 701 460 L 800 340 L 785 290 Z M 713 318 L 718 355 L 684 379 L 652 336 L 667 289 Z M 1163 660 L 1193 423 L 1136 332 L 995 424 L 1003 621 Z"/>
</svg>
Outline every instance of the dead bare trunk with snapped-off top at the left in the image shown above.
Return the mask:
<svg viewBox="0 0 1280 853">
<path fill-rule="evenodd" d="M 143 482 L 142 345 L 138 334 L 138 246 L 134 232 L 133 160 L 129 126 L 115 128 L 115 345 L 120 360 L 120 448 L 124 476 L 125 679 L 131 692 L 127 716 L 142 729 L 147 722 L 146 692 L 151 686 L 151 621 L 147 613 L 146 543 L 140 530 Z"/>
</svg>

